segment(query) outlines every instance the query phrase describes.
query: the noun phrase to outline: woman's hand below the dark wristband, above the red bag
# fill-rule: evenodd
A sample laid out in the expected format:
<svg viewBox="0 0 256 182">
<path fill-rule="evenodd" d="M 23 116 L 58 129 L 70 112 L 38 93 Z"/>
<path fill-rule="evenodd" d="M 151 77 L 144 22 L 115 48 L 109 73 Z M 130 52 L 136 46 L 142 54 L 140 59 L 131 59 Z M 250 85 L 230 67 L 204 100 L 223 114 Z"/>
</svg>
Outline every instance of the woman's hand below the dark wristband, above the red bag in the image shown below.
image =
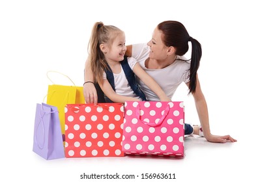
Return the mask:
<svg viewBox="0 0 256 182">
<path fill-rule="evenodd" d="M 98 103 L 98 95 L 93 83 L 85 83 L 83 85 L 83 96 L 85 97 L 85 103 Z"/>
</svg>

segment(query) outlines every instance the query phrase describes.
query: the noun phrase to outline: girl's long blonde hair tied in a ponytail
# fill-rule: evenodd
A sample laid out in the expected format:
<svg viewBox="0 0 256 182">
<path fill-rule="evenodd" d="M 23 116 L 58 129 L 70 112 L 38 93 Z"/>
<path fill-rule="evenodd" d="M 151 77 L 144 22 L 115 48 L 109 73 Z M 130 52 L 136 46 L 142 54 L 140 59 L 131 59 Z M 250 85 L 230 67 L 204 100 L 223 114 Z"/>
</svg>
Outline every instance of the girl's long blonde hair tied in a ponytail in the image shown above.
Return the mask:
<svg viewBox="0 0 256 182">
<path fill-rule="evenodd" d="M 105 69 L 108 69 L 104 53 L 102 53 L 100 49 L 100 44 L 107 44 L 107 46 L 110 47 L 110 45 L 113 44 L 115 37 L 120 33 L 123 33 L 121 29 L 113 25 L 104 25 L 101 21 L 96 22 L 92 27 L 88 52 L 95 82 L 102 82 L 103 72 Z"/>
</svg>

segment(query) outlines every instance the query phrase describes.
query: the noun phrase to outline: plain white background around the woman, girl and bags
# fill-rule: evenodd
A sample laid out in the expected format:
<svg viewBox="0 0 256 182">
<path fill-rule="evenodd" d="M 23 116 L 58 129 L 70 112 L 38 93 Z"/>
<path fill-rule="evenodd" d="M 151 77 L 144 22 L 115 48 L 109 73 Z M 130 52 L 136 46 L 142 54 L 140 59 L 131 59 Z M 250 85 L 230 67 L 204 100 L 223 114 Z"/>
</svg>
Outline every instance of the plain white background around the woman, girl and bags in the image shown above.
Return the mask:
<svg viewBox="0 0 256 182">
<path fill-rule="evenodd" d="M 173 181 L 251 181 L 255 164 L 255 8 L 253 1 L 0 1 L 0 181 L 107 181 L 80 174 L 175 173 Z M 238 142 L 185 140 L 184 159 L 103 157 L 46 161 L 32 151 L 36 103 L 45 101 L 46 72 L 83 85 L 92 25 L 126 32 L 126 44 L 148 42 L 164 20 L 182 22 L 201 42 L 201 87 L 211 131 Z M 189 57 L 189 55 L 188 55 Z M 52 75 L 56 84 L 72 85 Z M 199 123 L 192 96 L 181 85 L 186 122 Z M 250 166 L 252 164 L 252 166 Z M 109 180 L 115 181 L 115 180 Z M 151 181 L 171 181 L 155 179 Z"/>
</svg>

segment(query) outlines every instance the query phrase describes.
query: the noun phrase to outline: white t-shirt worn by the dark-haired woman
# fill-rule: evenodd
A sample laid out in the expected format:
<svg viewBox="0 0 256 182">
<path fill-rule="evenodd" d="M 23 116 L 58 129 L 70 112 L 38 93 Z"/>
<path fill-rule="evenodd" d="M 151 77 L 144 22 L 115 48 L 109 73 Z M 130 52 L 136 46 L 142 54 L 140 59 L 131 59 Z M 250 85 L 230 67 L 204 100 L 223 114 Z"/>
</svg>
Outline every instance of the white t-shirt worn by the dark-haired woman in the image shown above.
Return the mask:
<svg viewBox="0 0 256 182">
<path fill-rule="evenodd" d="M 132 45 L 132 57 L 139 62 L 143 70 L 145 70 L 161 88 L 164 90 L 165 94 L 172 98 L 175 90 L 178 88 L 180 83 L 188 83 L 190 81 L 190 61 L 186 60 L 185 57 L 179 57 L 175 60 L 173 64 L 163 68 L 163 69 L 148 69 L 145 67 L 145 60 L 149 58 L 150 48 L 147 44 L 134 44 Z M 137 81 L 141 90 L 146 95 L 149 101 L 159 101 L 158 96 L 150 88 L 145 85 L 138 77 Z"/>
</svg>

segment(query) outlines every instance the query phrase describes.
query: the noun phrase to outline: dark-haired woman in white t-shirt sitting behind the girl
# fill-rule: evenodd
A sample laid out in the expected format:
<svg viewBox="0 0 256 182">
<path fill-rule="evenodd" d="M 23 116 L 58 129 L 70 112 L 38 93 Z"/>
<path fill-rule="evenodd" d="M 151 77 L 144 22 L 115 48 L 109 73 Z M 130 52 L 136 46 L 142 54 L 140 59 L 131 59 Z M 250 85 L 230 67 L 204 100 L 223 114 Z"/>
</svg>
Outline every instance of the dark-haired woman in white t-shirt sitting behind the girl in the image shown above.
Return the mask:
<svg viewBox="0 0 256 182">
<path fill-rule="evenodd" d="M 184 55 L 188 51 L 188 42 L 192 43 L 192 57 L 187 60 Z M 192 38 L 182 23 L 178 21 L 163 21 L 158 24 L 152 34 L 152 40 L 145 44 L 127 46 L 126 55 L 134 57 L 141 67 L 153 77 L 171 99 L 180 83 L 184 82 L 193 94 L 195 106 L 201 127 L 195 126 L 191 134 L 199 135 L 203 129 L 203 136 L 209 142 L 236 142 L 229 135 L 218 136 L 210 133 L 208 109 L 205 97 L 200 87 L 197 70 L 201 59 L 201 44 Z M 94 81 L 89 64 L 85 64 L 85 81 Z M 165 79 L 163 79 L 165 78 Z M 139 86 L 147 99 L 158 100 L 156 95 L 139 79 Z M 94 85 L 84 85 L 84 96 L 87 103 L 97 103 Z M 185 125 L 189 127 L 188 124 Z M 188 134 L 188 133 L 185 133 Z"/>
</svg>

